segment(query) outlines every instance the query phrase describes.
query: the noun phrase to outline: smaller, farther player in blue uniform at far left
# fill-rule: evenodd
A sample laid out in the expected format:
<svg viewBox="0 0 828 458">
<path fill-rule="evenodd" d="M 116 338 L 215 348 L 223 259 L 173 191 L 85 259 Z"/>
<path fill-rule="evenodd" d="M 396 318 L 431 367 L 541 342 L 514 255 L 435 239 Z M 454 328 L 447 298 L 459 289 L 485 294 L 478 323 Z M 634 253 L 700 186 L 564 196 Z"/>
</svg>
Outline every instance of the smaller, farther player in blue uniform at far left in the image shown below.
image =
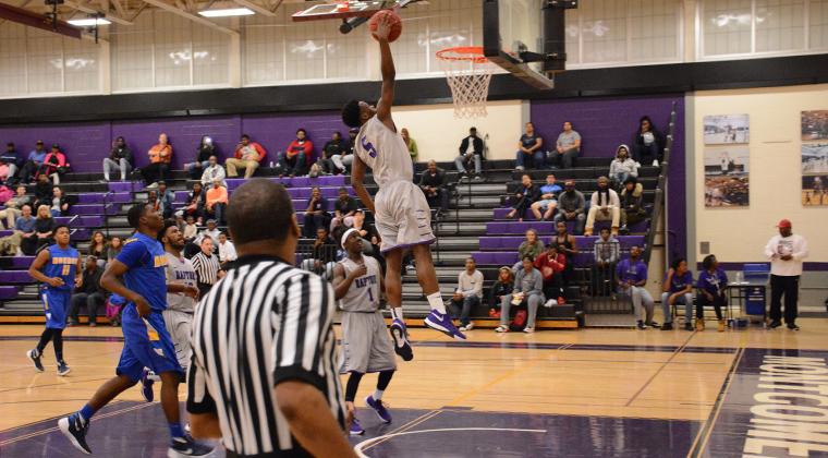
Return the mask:
<svg viewBox="0 0 828 458">
<path fill-rule="evenodd" d="M 44 301 L 46 313 L 46 329 L 40 335 L 37 347 L 28 350 L 26 355 L 35 364 L 37 372 L 44 372 L 40 358 L 44 349 L 51 340 L 54 345 L 54 358 L 58 361 L 58 375 L 69 374 L 69 365 L 63 361 L 63 328 L 66 327 L 66 310 L 72 297 L 72 286 L 81 285 L 81 256 L 77 250 L 69 245 L 69 227 L 58 226 L 54 229 L 53 245 L 37 254 L 28 275 L 44 284 L 40 288 L 40 300 Z"/>
</svg>

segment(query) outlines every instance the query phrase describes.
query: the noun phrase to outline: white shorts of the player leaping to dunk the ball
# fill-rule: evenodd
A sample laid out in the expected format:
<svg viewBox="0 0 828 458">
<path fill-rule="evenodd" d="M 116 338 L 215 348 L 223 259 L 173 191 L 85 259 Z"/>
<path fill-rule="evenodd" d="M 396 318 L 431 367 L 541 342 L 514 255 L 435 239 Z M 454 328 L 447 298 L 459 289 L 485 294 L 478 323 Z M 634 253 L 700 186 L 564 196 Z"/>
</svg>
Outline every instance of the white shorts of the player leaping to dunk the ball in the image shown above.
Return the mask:
<svg viewBox="0 0 828 458">
<path fill-rule="evenodd" d="M 375 225 L 382 239 L 379 251 L 434 243 L 431 208 L 423 191 L 410 181 L 397 181 L 382 188 L 375 202 Z"/>
</svg>

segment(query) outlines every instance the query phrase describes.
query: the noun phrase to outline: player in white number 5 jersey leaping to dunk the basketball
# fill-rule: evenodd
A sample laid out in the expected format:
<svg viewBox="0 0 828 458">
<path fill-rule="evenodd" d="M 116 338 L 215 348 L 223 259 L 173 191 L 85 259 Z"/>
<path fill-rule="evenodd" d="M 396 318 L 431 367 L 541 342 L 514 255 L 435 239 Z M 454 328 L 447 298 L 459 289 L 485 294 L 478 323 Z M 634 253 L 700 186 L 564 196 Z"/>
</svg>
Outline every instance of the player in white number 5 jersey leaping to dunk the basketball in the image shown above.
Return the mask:
<svg viewBox="0 0 828 458">
<path fill-rule="evenodd" d="M 394 98 L 394 63 L 388 43 L 390 23 L 386 17 L 378 22 L 374 35 L 379 41 L 382 72 L 382 93 L 376 107 L 365 101 L 349 101 L 342 109 L 342 120 L 360 128 L 354 142 L 354 161 L 351 183 L 365 206 L 374 213 L 380 236 L 380 251 L 386 257 L 386 297 L 391 306 L 391 336 L 394 351 L 404 360 L 413 358 L 402 315 L 402 258 L 411 250 L 417 266 L 417 279 L 428 299 L 431 313 L 426 326 L 458 339 L 465 336 L 458 330 L 446 313 L 431 250 L 436 238 L 431 232 L 431 210 L 423 191 L 412 179 L 414 170 L 405 142 L 391 119 Z M 379 185 L 376 203 L 365 189 L 365 171 L 370 168 Z"/>
</svg>

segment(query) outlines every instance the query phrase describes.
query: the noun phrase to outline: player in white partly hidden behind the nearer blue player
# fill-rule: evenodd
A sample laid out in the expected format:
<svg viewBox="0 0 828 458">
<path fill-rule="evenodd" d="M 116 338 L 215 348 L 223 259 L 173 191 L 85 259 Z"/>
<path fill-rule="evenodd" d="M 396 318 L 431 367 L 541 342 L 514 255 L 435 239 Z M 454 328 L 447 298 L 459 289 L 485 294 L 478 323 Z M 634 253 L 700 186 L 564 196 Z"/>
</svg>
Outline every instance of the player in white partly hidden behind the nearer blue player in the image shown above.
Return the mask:
<svg viewBox="0 0 828 458">
<path fill-rule="evenodd" d="M 193 335 L 193 313 L 198 301 L 198 287 L 193 263 L 181 254 L 184 234 L 168 221 L 159 232 L 167 252 L 167 310 L 162 312 L 167 332 L 175 345 L 175 358 L 186 371 L 190 365 L 190 339 Z"/>
</svg>

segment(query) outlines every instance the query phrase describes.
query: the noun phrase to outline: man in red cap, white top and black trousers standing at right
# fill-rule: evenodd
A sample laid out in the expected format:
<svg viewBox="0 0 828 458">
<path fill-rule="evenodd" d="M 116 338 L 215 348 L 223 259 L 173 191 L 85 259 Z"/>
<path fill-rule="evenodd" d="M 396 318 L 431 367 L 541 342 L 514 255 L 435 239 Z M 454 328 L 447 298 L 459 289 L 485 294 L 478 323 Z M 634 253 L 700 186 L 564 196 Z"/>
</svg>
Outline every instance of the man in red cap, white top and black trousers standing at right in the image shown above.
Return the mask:
<svg viewBox="0 0 828 458">
<path fill-rule="evenodd" d="M 807 242 L 793 233 L 793 225 L 782 219 L 777 226 L 779 234 L 774 236 L 765 246 L 765 256 L 770 260 L 770 327 L 782 325 L 782 297 L 784 297 L 784 323 L 791 330 L 796 326 L 796 300 L 800 292 L 802 260 L 807 257 Z"/>
</svg>

